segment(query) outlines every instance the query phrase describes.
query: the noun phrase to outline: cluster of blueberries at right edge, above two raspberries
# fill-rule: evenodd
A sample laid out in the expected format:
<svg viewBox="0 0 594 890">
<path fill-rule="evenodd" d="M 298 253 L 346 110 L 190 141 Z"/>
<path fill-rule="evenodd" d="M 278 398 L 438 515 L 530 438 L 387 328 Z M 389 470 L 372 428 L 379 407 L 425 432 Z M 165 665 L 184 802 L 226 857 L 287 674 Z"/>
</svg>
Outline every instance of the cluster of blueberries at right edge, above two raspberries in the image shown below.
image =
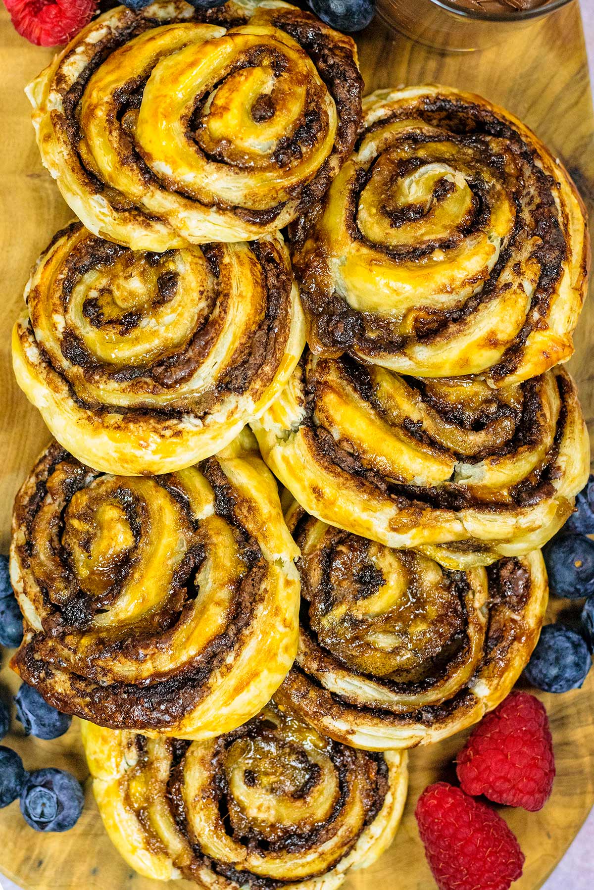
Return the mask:
<svg viewBox="0 0 594 890">
<path fill-rule="evenodd" d="M 575 627 L 542 628 L 525 677 L 544 692 L 567 692 L 583 683 L 594 654 L 594 476 L 575 501 L 576 512 L 544 547 L 551 594 L 569 600 L 586 597 Z"/>
</svg>

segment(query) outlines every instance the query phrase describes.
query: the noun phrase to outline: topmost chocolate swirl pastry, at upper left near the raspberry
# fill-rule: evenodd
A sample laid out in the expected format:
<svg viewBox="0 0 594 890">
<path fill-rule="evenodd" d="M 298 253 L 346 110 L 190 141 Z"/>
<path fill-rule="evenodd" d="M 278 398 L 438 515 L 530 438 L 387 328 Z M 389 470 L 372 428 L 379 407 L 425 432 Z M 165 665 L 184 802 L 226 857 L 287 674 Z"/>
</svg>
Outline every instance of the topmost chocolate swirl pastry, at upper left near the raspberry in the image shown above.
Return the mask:
<svg viewBox="0 0 594 890">
<path fill-rule="evenodd" d="M 354 41 L 280 0 L 118 6 L 27 89 L 42 160 L 85 226 L 134 249 L 261 238 L 354 145 Z"/>
</svg>

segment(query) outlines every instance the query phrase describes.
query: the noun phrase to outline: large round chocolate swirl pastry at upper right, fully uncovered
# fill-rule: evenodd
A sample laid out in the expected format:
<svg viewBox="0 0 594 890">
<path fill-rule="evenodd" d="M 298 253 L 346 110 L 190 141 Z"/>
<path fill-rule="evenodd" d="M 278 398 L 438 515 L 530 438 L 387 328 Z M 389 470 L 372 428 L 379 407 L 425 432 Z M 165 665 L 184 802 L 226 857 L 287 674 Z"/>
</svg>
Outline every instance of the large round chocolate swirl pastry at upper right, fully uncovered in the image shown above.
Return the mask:
<svg viewBox="0 0 594 890">
<path fill-rule="evenodd" d="M 582 200 L 531 130 L 473 93 L 364 99 L 351 158 L 294 235 L 318 354 L 504 385 L 573 352 L 590 265 Z"/>
</svg>

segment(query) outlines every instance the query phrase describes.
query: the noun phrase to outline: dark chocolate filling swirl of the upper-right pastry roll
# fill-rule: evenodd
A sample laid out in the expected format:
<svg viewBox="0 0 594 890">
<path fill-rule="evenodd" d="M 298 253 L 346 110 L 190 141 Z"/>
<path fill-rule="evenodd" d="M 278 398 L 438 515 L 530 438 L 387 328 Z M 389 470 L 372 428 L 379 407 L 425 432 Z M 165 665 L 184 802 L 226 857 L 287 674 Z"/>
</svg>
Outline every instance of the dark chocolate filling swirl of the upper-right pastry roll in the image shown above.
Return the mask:
<svg viewBox="0 0 594 890">
<path fill-rule="evenodd" d="M 359 227 L 357 213 L 362 190 L 370 182 L 374 169 L 382 157 L 379 155 L 371 161 L 369 167 L 360 167 L 354 175 L 346 200 L 344 219 L 350 239 L 353 242 L 361 242 L 374 252 L 386 255 L 396 263 L 416 263 L 435 251 L 447 253 L 455 250 L 461 246 L 464 239 L 475 232 L 484 231 L 488 225 L 492 196 L 487 184 L 487 174 L 489 179 L 497 182 L 501 189 L 508 192 L 510 200 L 516 206 L 514 227 L 509 232 L 498 261 L 488 278 L 484 282 L 476 282 L 481 285 L 477 293 L 451 307 L 440 309 L 427 307 L 426 312 L 420 315 L 411 332 L 406 335 L 398 332 L 395 321 L 388 316 L 357 312 L 337 291 L 327 287 L 329 269 L 323 249 L 314 251 L 313 255 L 307 251 L 302 255 L 300 248 L 305 242 L 305 231 L 294 228 L 292 234 L 295 239 L 294 246 L 297 248 L 294 264 L 309 316 L 313 343 L 314 345 L 317 343 L 317 351 L 326 355 L 338 356 L 341 352 L 359 353 L 369 357 L 370 360 L 387 354 L 397 355 L 416 342 L 429 343 L 440 336 L 448 325 L 469 318 L 480 305 L 494 299 L 507 287 L 511 287 L 509 282 L 500 280 L 501 272 L 513 259 L 520 244 L 524 244 L 527 239 L 537 239 L 531 259 L 538 263 L 540 275 L 533 291 L 525 325 L 517 334 L 514 343 L 490 370 L 490 375 L 497 379 L 511 375 L 518 367 L 522 347 L 528 336 L 549 311 L 550 297 L 555 292 L 563 271 L 563 263 L 566 261 L 566 240 L 553 194 L 555 183 L 538 166 L 533 150 L 512 125 L 472 102 L 454 101 L 440 96 L 435 99 L 427 97 L 411 105 L 404 105 L 396 112 L 379 118 L 363 129 L 355 150 L 361 147 L 364 138 L 373 134 L 378 128 L 409 118 L 419 119 L 421 125 L 437 128 L 443 125 L 445 132 L 424 134 L 419 129 L 418 134 L 411 135 L 407 131 L 406 135 L 397 138 L 394 144 L 399 150 L 403 153 L 408 151 L 409 155 L 417 157 L 395 162 L 395 180 L 432 162 L 430 148 L 427 157 L 423 155 L 424 144 L 454 142 L 474 157 L 474 179 L 466 177 L 467 185 L 473 195 L 472 212 L 469 217 L 460 221 L 460 225 L 453 225 L 452 231 L 444 238 L 428 239 L 419 245 L 406 244 L 399 247 L 381 241 L 370 241 Z M 505 151 L 509 152 L 517 166 L 517 174 L 511 179 L 502 153 L 501 141 L 505 142 Z M 455 160 L 453 165 L 455 166 Z M 432 206 L 438 205 L 452 189 L 451 182 L 443 179 L 438 181 L 434 189 Z M 531 190 L 531 198 L 530 208 L 526 213 L 523 212 L 522 202 L 525 190 L 528 189 Z M 393 209 L 387 203 L 386 206 L 378 207 L 378 214 L 384 216 L 389 226 L 400 228 L 404 223 L 420 219 L 425 214 L 425 208 L 413 203 Z M 304 224 L 306 227 L 307 223 Z M 310 225 L 310 231 L 313 231 L 314 218 Z M 419 306 L 419 310 L 422 309 L 423 307 Z"/>
</svg>

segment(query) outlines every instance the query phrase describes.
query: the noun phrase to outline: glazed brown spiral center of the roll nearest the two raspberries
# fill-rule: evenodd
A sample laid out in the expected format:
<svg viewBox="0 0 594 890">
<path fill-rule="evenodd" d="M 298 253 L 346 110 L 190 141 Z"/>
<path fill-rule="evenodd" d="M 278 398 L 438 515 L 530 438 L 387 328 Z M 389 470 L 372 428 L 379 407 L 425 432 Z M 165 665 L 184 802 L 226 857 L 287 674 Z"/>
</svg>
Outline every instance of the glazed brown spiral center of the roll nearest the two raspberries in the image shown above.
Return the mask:
<svg viewBox="0 0 594 890">
<path fill-rule="evenodd" d="M 432 560 L 328 529 L 301 560 L 309 622 L 352 670 L 414 682 L 460 649 L 460 591 Z"/>
</svg>

